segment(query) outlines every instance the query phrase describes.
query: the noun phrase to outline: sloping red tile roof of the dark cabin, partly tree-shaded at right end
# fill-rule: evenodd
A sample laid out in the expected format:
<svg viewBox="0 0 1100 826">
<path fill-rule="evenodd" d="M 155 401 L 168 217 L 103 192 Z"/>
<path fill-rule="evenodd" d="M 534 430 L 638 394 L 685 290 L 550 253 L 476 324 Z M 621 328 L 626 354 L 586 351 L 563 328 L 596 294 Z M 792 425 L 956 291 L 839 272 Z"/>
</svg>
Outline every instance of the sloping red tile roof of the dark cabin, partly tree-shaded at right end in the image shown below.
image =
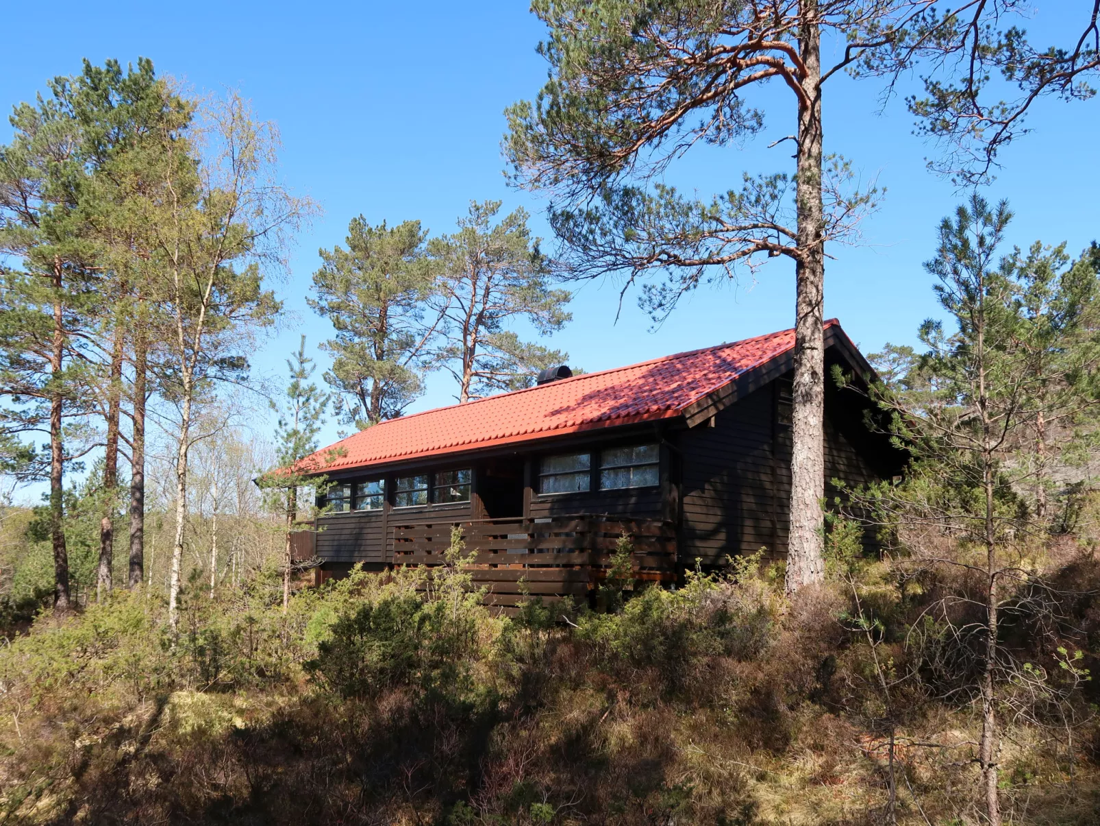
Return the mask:
<svg viewBox="0 0 1100 826">
<path fill-rule="evenodd" d="M 793 347 L 794 330 L 787 329 L 414 413 L 318 450 L 302 469 L 332 471 L 671 419 Z"/>
</svg>

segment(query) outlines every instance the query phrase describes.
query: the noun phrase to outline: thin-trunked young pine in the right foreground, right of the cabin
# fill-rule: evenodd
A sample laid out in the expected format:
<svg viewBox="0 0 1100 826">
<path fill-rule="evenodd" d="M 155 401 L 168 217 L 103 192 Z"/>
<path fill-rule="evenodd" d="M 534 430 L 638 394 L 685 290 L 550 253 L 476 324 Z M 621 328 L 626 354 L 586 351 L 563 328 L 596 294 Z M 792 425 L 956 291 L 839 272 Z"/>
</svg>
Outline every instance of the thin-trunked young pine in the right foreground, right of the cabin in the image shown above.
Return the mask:
<svg viewBox="0 0 1100 826">
<path fill-rule="evenodd" d="M 1087 260 L 1066 267 L 1058 248 L 1001 254 L 1011 218 L 1007 204 L 974 195 L 942 222 L 925 267 L 947 324 L 922 325 L 925 351 L 882 395 L 913 461 L 903 485 L 877 486 L 869 500 L 901 537 L 903 565 L 950 566 L 964 578 L 963 593 L 947 588 L 926 615 L 954 629 L 964 652 L 948 678 L 980 710 L 976 762 L 991 824 L 1002 820 L 1002 693 L 1027 673 L 1001 626 L 1007 611 L 1037 612 L 1049 589 L 1035 559 L 1052 514 L 1043 496 L 1026 497 L 1046 459 L 1036 427 L 1057 422 L 1067 454 L 1081 449 L 1088 433 L 1070 425 L 1081 415 L 1094 423 L 1100 401 L 1100 334 L 1087 323 L 1098 274 Z"/>
</svg>

